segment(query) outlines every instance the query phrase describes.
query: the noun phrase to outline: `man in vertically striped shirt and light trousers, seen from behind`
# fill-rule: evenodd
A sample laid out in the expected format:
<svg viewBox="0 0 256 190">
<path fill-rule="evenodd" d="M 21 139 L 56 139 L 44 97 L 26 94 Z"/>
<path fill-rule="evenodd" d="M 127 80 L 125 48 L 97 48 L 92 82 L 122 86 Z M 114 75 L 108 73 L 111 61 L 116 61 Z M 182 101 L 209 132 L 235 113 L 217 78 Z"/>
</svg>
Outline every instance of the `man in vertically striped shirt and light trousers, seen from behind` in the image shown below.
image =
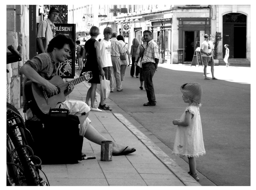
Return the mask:
<svg viewBox="0 0 256 190">
<path fill-rule="evenodd" d="M 121 81 L 121 60 L 120 60 L 120 54 L 123 55 L 125 53 L 125 50 L 121 44 L 120 41 L 116 39 L 117 32 L 113 32 L 112 37 L 110 39 L 111 41 L 111 61 L 114 68 L 114 76 L 115 76 L 115 82 L 116 82 L 116 91 L 121 92 L 124 89 L 122 88 L 122 81 Z"/>
</svg>

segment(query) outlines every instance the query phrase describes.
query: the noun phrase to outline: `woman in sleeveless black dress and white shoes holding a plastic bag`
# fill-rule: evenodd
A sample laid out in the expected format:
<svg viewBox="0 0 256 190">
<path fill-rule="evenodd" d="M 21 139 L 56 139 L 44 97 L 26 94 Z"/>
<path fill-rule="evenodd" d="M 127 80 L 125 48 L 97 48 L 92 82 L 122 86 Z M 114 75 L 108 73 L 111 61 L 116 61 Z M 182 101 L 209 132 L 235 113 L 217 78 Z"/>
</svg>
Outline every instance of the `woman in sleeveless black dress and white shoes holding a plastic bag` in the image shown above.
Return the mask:
<svg viewBox="0 0 256 190">
<path fill-rule="evenodd" d="M 98 27 L 92 26 L 89 34 L 91 35 L 91 38 L 86 41 L 83 49 L 83 59 L 86 59 L 85 68 L 81 72 L 81 74 L 86 71 L 92 72 L 92 79 L 88 81 L 88 83 L 91 83 L 91 87 L 87 92 L 85 103 L 89 106 L 89 99 L 91 99 L 91 111 L 102 111 L 94 104 L 97 84 L 100 84 L 100 76 L 104 76 L 100 59 L 100 42 L 96 40 L 100 34 L 100 30 Z M 101 105 L 104 104 L 105 100 L 101 98 Z"/>
</svg>

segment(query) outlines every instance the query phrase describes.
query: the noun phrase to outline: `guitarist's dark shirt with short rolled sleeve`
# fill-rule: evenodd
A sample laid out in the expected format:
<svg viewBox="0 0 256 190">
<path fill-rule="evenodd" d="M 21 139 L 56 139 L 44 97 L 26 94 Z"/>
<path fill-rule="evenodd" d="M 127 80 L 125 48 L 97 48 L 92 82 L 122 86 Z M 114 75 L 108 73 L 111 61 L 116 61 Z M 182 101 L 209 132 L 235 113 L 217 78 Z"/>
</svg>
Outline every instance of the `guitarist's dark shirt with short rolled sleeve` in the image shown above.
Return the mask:
<svg viewBox="0 0 256 190">
<path fill-rule="evenodd" d="M 31 66 L 35 71 L 43 78 L 49 80 L 51 76 L 56 75 L 57 64 L 52 58 L 51 53 L 41 53 L 31 60 L 26 61 L 24 64 Z M 29 108 L 28 102 L 25 96 L 25 84 L 29 81 L 27 77 L 24 79 L 23 85 L 23 109 L 27 110 Z"/>
</svg>

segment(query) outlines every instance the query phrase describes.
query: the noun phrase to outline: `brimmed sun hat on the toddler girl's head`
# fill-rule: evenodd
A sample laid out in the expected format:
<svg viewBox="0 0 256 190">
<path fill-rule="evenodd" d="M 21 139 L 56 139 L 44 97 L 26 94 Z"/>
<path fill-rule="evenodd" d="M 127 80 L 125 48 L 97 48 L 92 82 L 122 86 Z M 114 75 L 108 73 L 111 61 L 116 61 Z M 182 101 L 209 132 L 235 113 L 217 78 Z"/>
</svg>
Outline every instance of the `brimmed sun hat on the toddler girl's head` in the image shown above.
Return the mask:
<svg viewBox="0 0 256 190">
<path fill-rule="evenodd" d="M 180 87 L 181 92 L 196 103 L 201 103 L 203 93 L 202 86 L 199 83 L 186 83 Z"/>
</svg>

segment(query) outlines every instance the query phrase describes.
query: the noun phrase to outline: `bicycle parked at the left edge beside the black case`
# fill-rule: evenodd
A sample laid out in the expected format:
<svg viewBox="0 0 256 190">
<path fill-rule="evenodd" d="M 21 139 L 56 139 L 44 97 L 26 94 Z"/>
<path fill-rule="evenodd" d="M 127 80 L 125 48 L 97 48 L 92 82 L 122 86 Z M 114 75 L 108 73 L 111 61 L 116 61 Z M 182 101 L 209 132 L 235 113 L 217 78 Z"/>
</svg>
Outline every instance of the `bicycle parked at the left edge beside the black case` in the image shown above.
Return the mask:
<svg viewBox="0 0 256 190">
<path fill-rule="evenodd" d="M 21 61 L 21 46 L 17 50 L 12 45 L 7 47 L 6 63 Z M 7 70 L 8 72 L 8 70 Z M 7 186 L 49 186 L 45 173 L 41 170 L 41 160 L 34 155 L 28 142 L 33 142 L 19 111 L 6 103 L 6 185 Z M 39 175 L 42 171 L 47 182 Z"/>
</svg>

